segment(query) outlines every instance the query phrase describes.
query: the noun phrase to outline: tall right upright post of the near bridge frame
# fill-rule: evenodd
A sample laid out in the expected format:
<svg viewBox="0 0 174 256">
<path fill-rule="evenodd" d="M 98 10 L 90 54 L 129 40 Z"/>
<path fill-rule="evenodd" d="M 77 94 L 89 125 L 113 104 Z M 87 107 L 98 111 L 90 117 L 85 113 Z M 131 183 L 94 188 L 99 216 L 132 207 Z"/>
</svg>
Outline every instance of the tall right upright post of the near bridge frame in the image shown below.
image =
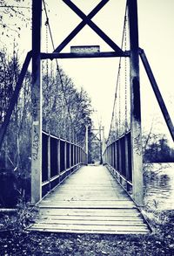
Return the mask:
<svg viewBox="0 0 174 256">
<path fill-rule="evenodd" d="M 141 135 L 141 106 L 139 86 L 139 45 L 137 24 L 137 0 L 128 0 L 131 44 L 131 150 L 133 174 L 133 198 L 143 205 L 143 163 Z"/>
</svg>

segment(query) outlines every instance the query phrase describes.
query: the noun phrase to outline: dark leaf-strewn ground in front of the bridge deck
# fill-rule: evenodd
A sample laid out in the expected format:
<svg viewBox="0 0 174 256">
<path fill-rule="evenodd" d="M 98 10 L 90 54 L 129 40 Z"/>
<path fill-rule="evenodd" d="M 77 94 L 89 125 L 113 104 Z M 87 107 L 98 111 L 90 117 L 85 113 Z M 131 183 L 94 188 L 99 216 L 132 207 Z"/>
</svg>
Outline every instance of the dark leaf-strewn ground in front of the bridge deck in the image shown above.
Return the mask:
<svg viewBox="0 0 174 256">
<path fill-rule="evenodd" d="M 3 232 L 3 223 L 0 255 L 174 255 L 174 211 L 161 211 L 158 218 L 157 212 L 154 218 L 152 212 L 147 216 L 152 227 L 147 235 L 40 233 L 19 228 Z"/>
</svg>

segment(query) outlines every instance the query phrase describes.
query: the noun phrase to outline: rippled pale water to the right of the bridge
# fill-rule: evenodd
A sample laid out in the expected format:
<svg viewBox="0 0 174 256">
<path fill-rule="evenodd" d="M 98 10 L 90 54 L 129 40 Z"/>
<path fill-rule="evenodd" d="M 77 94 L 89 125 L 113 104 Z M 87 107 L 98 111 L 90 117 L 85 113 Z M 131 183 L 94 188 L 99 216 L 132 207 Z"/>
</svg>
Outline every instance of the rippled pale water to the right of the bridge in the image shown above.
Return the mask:
<svg viewBox="0 0 174 256">
<path fill-rule="evenodd" d="M 150 166 L 151 177 L 145 179 L 144 204 L 158 210 L 174 209 L 174 163 Z"/>
</svg>

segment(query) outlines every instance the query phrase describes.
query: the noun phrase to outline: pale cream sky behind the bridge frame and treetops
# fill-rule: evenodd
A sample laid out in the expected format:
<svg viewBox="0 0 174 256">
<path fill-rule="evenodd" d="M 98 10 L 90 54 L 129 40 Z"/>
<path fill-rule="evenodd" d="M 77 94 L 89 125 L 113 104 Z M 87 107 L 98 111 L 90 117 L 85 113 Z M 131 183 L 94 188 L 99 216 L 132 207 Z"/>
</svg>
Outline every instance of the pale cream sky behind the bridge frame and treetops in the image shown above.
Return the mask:
<svg viewBox="0 0 174 256">
<path fill-rule="evenodd" d="M 86 14 L 99 3 L 97 0 L 73 0 L 73 2 Z M 49 0 L 46 3 L 48 3 L 48 10 L 50 10 L 50 26 L 57 46 L 81 19 L 62 0 Z M 171 119 L 174 121 L 174 1 L 137 0 L 137 4 L 139 45 L 146 52 L 157 84 L 170 111 Z M 121 45 L 124 26 L 124 9 L 125 0 L 110 0 L 92 19 L 119 46 Z M 43 15 L 43 24 L 44 22 L 45 17 Z M 45 51 L 44 33 L 43 25 L 43 51 Z M 23 28 L 21 31 L 19 44 L 21 52 L 23 52 L 21 59 L 24 59 L 25 52 L 30 51 L 29 28 Z M 100 45 L 102 52 L 111 51 L 110 46 L 106 45 L 88 26 L 79 32 L 63 52 L 70 52 L 70 45 Z M 51 50 L 50 46 L 50 52 Z M 59 59 L 58 62 L 74 83 L 77 86 L 84 86 L 84 89 L 89 93 L 92 106 L 97 110 L 98 119 L 102 118 L 107 134 L 110 128 L 118 59 Z M 153 116 L 157 115 L 158 121 L 154 122 L 154 130 L 159 131 L 160 129 L 169 136 L 165 126 L 159 125 L 159 121 L 164 124 L 163 116 L 159 112 L 151 85 L 142 66 L 140 79 L 143 127 L 148 129 Z"/>
</svg>

